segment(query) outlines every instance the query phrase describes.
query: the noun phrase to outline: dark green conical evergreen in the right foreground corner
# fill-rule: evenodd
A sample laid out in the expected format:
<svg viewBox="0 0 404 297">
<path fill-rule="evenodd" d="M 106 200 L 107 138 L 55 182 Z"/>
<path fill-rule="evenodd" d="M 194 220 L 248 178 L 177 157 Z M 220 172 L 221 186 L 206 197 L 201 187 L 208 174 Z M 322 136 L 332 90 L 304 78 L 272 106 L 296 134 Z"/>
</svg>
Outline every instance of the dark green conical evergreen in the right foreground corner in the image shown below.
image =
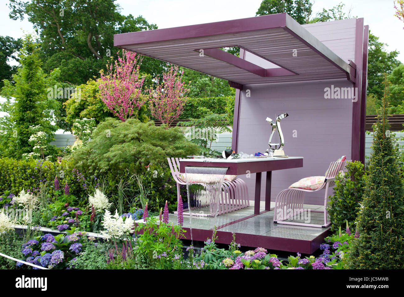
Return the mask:
<svg viewBox="0 0 404 297">
<path fill-rule="evenodd" d="M 351 269 L 404 268 L 404 192 L 398 169 L 398 149 L 390 135 L 387 78 L 375 124 L 369 176 L 358 216 L 359 238 L 353 240 Z"/>
</svg>

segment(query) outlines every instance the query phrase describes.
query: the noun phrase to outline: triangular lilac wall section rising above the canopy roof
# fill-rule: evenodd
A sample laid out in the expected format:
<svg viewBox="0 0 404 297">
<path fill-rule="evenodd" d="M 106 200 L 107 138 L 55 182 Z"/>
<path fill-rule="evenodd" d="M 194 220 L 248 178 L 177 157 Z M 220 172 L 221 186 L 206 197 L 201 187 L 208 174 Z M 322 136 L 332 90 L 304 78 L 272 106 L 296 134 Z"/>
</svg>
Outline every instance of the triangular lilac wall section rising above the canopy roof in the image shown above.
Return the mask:
<svg viewBox="0 0 404 297">
<path fill-rule="evenodd" d="M 302 25 L 341 59 L 354 61 L 356 19 Z"/>
</svg>

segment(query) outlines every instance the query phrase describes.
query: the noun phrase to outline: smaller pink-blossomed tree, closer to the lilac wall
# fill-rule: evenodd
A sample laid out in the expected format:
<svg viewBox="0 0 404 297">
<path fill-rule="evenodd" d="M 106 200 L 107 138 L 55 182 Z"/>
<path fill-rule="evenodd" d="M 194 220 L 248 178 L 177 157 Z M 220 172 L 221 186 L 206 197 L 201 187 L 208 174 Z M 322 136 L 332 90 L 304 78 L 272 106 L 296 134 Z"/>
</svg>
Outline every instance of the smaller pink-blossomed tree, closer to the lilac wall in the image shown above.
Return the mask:
<svg viewBox="0 0 404 297">
<path fill-rule="evenodd" d="M 170 69 L 163 73 L 162 82 L 156 89 L 149 90 L 151 115 L 165 124 L 166 129 L 179 118 L 187 101 L 186 94 L 189 89 L 182 81 L 183 74 L 183 71 L 179 72 L 178 66 L 171 65 Z"/>
</svg>

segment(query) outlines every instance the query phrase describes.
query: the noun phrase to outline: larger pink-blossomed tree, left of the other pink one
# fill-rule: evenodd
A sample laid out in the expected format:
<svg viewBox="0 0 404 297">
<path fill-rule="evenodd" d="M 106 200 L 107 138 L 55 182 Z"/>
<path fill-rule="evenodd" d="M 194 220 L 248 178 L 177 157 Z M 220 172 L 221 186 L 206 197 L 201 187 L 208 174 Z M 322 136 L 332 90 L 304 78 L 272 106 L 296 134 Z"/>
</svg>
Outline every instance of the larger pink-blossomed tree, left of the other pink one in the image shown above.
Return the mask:
<svg viewBox="0 0 404 297">
<path fill-rule="evenodd" d="M 106 74 L 101 70 L 99 89 L 102 101 L 124 122 L 137 116 L 147 97 L 141 95 L 144 78 L 139 73 L 143 56 L 130 51 L 122 51 L 115 63 L 107 64 Z"/>
</svg>

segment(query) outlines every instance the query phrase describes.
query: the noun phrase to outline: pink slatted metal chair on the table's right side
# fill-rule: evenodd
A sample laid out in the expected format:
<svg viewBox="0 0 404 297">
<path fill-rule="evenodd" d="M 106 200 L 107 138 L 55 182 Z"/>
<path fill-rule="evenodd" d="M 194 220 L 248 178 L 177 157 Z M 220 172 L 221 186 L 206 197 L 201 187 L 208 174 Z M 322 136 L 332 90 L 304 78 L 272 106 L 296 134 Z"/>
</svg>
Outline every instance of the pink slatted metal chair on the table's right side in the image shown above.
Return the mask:
<svg viewBox="0 0 404 297">
<path fill-rule="evenodd" d="M 335 185 L 335 177 L 340 172 L 346 172 L 347 160 L 343 162 L 331 162 L 328 171 L 326 172 L 324 182 L 317 190 L 305 190 L 300 188 L 288 188 L 281 191 L 276 197 L 275 209 L 274 209 L 274 223 L 286 224 L 286 225 L 298 225 L 307 227 L 328 227 L 331 223 L 327 221 L 327 202 L 328 202 L 328 189 Z M 311 211 L 316 213 L 324 213 L 324 224 L 310 224 L 310 223 L 297 223 L 291 221 L 285 221 L 287 219 L 299 218 L 299 215 L 305 210 L 303 209 L 304 194 L 305 192 L 318 192 L 325 189 L 324 194 L 324 210 Z M 310 211 L 310 210 L 307 210 Z M 300 216 L 301 217 L 301 216 Z"/>
</svg>

